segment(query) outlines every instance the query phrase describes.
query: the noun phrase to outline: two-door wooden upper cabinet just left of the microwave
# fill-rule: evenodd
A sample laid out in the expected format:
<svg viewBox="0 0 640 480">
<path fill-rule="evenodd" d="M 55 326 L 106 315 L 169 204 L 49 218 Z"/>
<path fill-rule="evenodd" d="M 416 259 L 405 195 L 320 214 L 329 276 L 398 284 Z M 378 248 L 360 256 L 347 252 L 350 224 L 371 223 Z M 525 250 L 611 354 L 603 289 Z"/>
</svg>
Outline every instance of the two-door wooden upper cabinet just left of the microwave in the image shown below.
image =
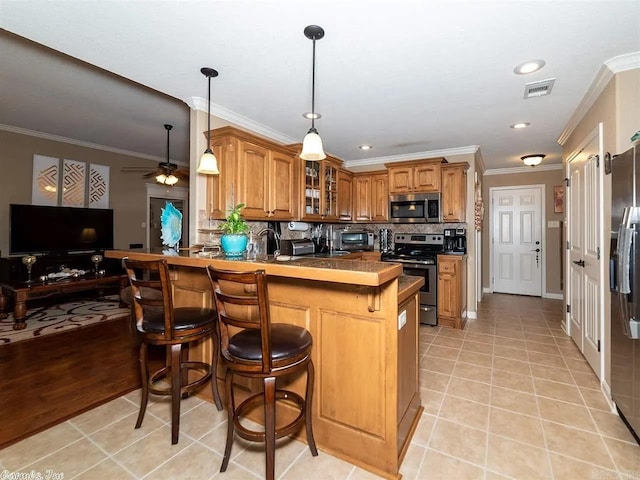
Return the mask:
<svg viewBox="0 0 640 480">
<path fill-rule="evenodd" d="M 386 172 L 367 172 L 354 176 L 353 212 L 356 221 L 388 220 L 389 190 Z"/>
</svg>

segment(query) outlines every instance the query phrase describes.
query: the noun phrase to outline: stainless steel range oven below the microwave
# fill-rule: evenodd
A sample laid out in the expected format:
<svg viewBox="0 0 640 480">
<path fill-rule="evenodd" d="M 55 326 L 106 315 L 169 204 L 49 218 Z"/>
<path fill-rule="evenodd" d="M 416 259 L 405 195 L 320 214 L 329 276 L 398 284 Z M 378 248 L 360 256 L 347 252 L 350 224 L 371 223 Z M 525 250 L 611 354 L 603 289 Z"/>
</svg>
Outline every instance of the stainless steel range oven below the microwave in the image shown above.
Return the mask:
<svg viewBox="0 0 640 480">
<path fill-rule="evenodd" d="M 402 264 L 404 275 L 424 278 L 420 289 L 420 323 L 438 324 L 438 265 L 437 256 L 443 252 L 444 237 L 432 233 L 396 233 L 393 236 L 392 252 L 383 253 L 385 262 Z"/>
</svg>

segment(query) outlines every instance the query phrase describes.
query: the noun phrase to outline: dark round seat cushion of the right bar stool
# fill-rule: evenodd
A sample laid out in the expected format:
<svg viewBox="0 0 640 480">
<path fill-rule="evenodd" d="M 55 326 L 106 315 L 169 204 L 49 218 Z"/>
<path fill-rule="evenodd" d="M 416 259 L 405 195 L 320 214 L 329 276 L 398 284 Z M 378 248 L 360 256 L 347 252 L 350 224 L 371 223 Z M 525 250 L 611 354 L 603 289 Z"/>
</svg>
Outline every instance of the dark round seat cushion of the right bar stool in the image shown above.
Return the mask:
<svg viewBox="0 0 640 480">
<path fill-rule="evenodd" d="M 304 353 L 313 342 L 304 328 L 284 323 L 271 324 L 271 356 L 283 360 Z M 262 359 L 260 330 L 243 330 L 229 339 L 229 353 L 236 358 L 259 362 Z"/>
</svg>

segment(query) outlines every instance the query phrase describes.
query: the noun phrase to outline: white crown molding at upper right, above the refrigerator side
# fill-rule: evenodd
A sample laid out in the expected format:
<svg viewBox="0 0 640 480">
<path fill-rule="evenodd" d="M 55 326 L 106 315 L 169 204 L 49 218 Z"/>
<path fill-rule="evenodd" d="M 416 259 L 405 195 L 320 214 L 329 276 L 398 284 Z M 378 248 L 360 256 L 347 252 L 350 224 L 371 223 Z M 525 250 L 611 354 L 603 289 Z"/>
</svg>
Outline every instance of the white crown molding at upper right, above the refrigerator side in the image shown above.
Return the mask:
<svg viewBox="0 0 640 480">
<path fill-rule="evenodd" d="M 640 68 L 640 52 L 627 53 L 625 55 L 618 55 L 606 62 L 600 68 L 596 77 L 591 82 L 591 86 L 587 90 L 587 93 L 582 98 L 582 101 L 578 105 L 578 108 L 573 112 L 571 118 L 567 122 L 567 126 L 564 128 L 557 142 L 560 145 L 564 145 L 567 139 L 571 136 L 578 124 L 582 121 L 589 109 L 596 102 L 600 94 L 605 87 L 609 84 L 611 79 L 616 73 L 625 72 L 627 70 L 633 70 Z"/>
</svg>

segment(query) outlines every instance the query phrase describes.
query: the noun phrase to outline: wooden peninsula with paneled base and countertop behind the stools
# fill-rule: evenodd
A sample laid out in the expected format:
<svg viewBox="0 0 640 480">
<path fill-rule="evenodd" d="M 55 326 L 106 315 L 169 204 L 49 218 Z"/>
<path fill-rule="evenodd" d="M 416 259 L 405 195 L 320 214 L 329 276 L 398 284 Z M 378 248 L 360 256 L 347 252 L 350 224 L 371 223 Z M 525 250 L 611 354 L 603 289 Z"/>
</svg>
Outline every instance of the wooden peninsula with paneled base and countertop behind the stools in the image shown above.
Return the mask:
<svg viewBox="0 0 640 480">
<path fill-rule="evenodd" d="M 106 256 L 163 257 L 139 251 L 110 251 Z M 206 265 L 266 270 L 272 322 L 304 327 L 313 336 L 318 448 L 377 475 L 400 477 L 400 464 L 422 413 L 417 298 L 422 278 L 401 276 L 399 264 L 361 260 L 261 263 L 202 258 L 193 252 L 163 258 L 172 266 L 178 306 L 212 305 Z M 207 356 L 210 349 L 210 342 L 202 343 L 192 354 Z M 221 388 L 223 374 L 218 371 Z M 304 376 L 292 377 L 278 387 L 303 395 L 304 381 Z M 241 401 L 259 388 L 238 384 L 236 397 Z M 261 421 L 260 412 L 255 419 Z M 303 432 L 298 438 L 304 441 Z"/>
</svg>

